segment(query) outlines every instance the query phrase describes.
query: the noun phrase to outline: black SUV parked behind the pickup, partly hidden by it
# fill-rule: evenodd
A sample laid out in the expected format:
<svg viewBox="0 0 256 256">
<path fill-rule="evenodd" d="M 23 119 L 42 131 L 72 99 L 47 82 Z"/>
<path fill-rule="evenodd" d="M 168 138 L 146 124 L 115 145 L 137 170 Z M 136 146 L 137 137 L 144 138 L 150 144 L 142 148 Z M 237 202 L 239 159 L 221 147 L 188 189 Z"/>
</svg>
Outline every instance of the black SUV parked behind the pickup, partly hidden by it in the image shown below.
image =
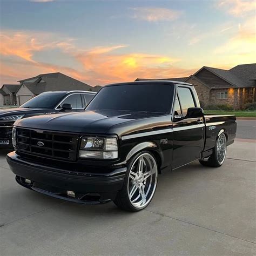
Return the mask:
<svg viewBox="0 0 256 256">
<path fill-rule="evenodd" d="M 0 148 L 12 147 L 11 131 L 16 120 L 40 114 L 83 111 L 95 95 L 96 92 L 89 91 L 43 92 L 19 107 L 0 110 Z"/>
</svg>

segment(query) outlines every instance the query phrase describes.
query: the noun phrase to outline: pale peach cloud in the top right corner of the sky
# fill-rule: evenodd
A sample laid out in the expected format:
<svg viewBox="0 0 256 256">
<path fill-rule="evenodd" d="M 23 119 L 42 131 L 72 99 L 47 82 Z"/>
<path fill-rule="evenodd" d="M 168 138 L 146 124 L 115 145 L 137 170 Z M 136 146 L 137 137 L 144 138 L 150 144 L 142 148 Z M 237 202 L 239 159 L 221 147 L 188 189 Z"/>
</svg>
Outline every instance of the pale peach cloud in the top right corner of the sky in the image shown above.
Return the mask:
<svg viewBox="0 0 256 256">
<path fill-rule="evenodd" d="M 225 8 L 233 16 L 246 16 L 249 12 L 256 9 L 254 0 L 220 0 L 219 8 Z"/>
</svg>

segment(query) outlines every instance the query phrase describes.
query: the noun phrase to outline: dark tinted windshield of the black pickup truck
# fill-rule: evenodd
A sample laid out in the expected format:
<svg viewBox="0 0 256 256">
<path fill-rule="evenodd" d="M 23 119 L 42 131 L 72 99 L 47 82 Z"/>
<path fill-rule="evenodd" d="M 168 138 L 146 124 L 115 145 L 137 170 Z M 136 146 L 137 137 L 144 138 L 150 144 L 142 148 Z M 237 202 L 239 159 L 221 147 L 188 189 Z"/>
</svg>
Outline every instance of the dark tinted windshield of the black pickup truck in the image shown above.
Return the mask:
<svg viewBox="0 0 256 256">
<path fill-rule="evenodd" d="M 126 84 L 103 87 L 85 110 L 128 110 L 168 113 L 173 86 L 167 84 Z"/>
</svg>

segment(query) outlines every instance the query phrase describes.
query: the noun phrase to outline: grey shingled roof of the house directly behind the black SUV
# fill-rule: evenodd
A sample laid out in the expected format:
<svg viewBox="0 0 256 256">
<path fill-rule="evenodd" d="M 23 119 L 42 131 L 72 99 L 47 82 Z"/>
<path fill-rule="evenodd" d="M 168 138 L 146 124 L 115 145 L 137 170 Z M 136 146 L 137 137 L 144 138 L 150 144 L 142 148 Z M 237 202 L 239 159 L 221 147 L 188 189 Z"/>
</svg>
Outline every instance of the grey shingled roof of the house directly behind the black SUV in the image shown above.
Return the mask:
<svg viewBox="0 0 256 256">
<path fill-rule="evenodd" d="M 18 82 L 21 82 L 20 87 L 24 84 L 35 95 L 45 91 L 89 91 L 92 89 L 92 86 L 60 72 L 41 74 Z"/>
</svg>

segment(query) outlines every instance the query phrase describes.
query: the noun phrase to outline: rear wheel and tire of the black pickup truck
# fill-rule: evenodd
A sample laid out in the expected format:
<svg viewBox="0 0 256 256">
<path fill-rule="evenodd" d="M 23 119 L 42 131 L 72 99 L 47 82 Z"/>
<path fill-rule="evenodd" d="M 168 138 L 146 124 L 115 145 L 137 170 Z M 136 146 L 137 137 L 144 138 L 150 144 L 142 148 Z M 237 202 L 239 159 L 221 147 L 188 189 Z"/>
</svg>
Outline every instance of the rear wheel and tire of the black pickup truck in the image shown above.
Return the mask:
<svg viewBox="0 0 256 256">
<path fill-rule="evenodd" d="M 221 133 L 213 149 L 213 153 L 207 161 L 199 160 L 199 163 L 203 166 L 220 167 L 223 165 L 227 153 L 227 138 L 224 133 Z"/>
</svg>

